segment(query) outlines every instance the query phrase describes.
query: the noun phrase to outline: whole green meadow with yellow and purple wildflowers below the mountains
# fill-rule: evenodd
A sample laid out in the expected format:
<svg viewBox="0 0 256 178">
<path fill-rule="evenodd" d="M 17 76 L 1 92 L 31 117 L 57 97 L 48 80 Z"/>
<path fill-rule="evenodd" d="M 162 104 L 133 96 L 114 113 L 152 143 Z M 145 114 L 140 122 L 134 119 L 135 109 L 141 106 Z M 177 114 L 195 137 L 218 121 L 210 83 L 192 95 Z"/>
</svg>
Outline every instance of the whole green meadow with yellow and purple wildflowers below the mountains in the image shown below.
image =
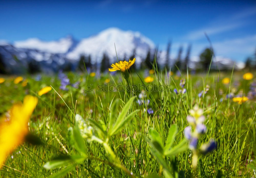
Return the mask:
<svg viewBox="0 0 256 178">
<path fill-rule="evenodd" d="M 0 177 L 255 177 L 254 73 L 133 63 L 1 76 Z"/>
</svg>

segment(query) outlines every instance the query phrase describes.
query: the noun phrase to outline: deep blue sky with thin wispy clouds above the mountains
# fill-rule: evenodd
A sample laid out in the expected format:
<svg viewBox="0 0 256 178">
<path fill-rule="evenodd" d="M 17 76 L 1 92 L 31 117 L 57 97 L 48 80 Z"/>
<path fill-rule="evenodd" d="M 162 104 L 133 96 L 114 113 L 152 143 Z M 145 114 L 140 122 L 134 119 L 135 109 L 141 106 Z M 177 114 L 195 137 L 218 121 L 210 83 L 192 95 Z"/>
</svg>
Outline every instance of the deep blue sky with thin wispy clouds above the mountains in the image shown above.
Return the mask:
<svg viewBox="0 0 256 178">
<path fill-rule="evenodd" d="M 0 39 L 82 39 L 109 27 L 139 31 L 172 54 L 208 46 L 216 55 L 243 61 L 256 49 L 256 1 L 1 1 Z"/>
</svg>

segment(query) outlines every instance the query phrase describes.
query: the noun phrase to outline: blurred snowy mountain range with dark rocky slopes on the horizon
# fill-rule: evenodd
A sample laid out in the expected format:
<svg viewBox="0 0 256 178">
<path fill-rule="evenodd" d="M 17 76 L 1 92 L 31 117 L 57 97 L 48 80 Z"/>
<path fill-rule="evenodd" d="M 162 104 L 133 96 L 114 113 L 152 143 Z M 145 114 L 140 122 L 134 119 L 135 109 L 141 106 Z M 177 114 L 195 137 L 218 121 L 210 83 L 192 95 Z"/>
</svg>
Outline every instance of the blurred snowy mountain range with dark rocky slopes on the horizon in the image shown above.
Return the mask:
<svg viewBox="0 0 256 178">
<path fill-rule="evenodd" d="M 24 68 L 33 69 L 35 65 L 44 72 L 56 72 L 67 67 L 74 70 L 81 55 L 90 55 L 91 62 L 99 64 L 103 54 L 109 56 L 111 63 L 117 61 L 116 56 L 124 60 L 135 54 L 136 63 L 140 64 L 149 50 L 154 54 L 155 48 L 155 44 L 140 32 L 108 28 L 80 41 L 72 36 L 57 41 L 42 41 L 38 38 L 15 41 L 13 44 L 0 41 L 0 57 L 7 73 L 20 73 Z M 159 52 L 158 56 L 161 64 L 166 58 L 166 52 Z M 198 59 L 191 61 L 190 66 L 193 68 Z M 232 60 L 225 58 L 223 64 L 221 61 L 219 57 L 216 64 L 218 62 L 218 66 L 233 67 Z"/>
</svg>

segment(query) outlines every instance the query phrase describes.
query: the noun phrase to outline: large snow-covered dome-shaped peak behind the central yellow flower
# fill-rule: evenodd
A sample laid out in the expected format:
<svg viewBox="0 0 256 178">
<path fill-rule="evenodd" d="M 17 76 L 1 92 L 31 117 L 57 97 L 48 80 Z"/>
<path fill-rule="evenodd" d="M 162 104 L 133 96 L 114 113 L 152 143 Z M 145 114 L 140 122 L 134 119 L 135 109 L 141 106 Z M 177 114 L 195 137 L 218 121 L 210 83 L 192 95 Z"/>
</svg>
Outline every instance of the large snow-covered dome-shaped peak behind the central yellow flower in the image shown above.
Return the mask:
<svg viewBox="0 0 256 178">
<path fill-rule="evenodd" d="M 140 62 L 148 50 L 154 48 L 154 43 L 139 32 L 109 28 L 95 36 L 82 39 L 76 48 L 67 54 L 67 58 L 78 60 L 82 54 L 90 54 L 92 61 L 99 63 L 104 53 L 111 60 L 116 60 L 117 53 L 119 60 L 123 60 L 132 56 L 134 49 L 136 49 L 136 60 Z"/>
</svg>

